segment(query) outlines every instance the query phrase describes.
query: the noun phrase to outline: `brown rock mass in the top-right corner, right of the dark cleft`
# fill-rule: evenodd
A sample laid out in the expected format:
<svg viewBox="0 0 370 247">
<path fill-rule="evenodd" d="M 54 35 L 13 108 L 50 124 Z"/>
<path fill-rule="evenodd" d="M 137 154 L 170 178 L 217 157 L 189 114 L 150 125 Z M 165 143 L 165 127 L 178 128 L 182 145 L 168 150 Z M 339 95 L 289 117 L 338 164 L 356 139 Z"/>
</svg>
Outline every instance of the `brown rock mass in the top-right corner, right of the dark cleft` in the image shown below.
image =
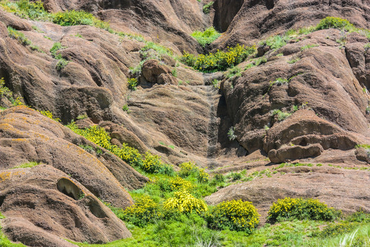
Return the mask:
<svg viewBox="0 0 370 247">
<path fill-rule="evenodd" d="M 251 44 L 267 36 L 282 34 L 290 28 L 316 25 L 326 16 L 342 16 L 357 27 L 370 27 L 369 1 L 246 0 L 236 1 L 235 5 L 233 1 L 233 4 L 227 5 L 229 2 L 230 0 L 217 1 L 217 6 L 225 8 L 216 9 L 216 16 L 219 17 L 215 21 L 225 23 L 227 31 L 213 44 L 214 47 Z M 238 10 L 240 2 L 243 5 Z M 234 19 L 231 14 L 234 14 Z M 221 26 L 220 29 L 225 31 L 225 27 Z"/>
</svg>

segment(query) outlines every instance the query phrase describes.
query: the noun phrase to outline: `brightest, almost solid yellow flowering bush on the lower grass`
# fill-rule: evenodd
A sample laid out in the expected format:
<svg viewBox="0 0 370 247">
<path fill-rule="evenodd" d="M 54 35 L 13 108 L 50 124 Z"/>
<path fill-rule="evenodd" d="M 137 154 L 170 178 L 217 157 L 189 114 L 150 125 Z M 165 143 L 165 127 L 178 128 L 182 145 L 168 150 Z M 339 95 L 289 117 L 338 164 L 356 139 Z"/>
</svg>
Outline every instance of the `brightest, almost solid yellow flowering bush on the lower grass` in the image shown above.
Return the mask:
<svg viewBox="0 0 370 247">
<path fill-rule="evenodd" d="M 204 200 L 195 198 L 188 191 L 176 191 L 173 193 L 173 197 L 163 202 L 164 210 L 175 210 L 180 213 L 203 213 L 208 211 L 208 207 Z"/>
</svg>

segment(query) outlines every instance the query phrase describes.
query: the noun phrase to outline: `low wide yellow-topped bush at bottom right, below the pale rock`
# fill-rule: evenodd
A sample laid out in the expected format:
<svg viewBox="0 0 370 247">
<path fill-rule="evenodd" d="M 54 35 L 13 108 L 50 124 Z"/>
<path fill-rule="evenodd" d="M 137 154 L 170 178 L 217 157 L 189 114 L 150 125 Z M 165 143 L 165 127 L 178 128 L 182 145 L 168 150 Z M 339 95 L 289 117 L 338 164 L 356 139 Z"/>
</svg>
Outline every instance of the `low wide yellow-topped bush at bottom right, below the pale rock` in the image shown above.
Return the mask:
<svg viewBox="0 0 370 247">
<path fill-rule="evenodd" d="M 284 198 L 274 202 L 270 207 L 267 219 L 277 222 L 288 219 L 297 220 L 335 220 L 341 215 L 317 199 Z"/>
</svg>

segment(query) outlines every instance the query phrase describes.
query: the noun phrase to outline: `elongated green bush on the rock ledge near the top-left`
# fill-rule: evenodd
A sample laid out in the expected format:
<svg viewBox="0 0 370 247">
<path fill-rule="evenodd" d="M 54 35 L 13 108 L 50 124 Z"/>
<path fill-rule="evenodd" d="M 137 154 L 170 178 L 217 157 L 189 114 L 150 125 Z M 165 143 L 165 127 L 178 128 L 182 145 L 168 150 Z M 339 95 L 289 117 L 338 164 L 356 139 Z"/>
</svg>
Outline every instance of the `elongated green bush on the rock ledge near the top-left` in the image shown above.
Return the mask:
<svg viewBox="0 0 370 247">
<path fill-rule="evenodd" d="M 93 14 L 85 12 L 84 10 L 58 12 L 53 17 L 53 23 L 62 26 L 90 25 L 99 27 L 103 30 L 108 30 L 110 27 L 109 23 L 97 19 Z"/>
</svg>

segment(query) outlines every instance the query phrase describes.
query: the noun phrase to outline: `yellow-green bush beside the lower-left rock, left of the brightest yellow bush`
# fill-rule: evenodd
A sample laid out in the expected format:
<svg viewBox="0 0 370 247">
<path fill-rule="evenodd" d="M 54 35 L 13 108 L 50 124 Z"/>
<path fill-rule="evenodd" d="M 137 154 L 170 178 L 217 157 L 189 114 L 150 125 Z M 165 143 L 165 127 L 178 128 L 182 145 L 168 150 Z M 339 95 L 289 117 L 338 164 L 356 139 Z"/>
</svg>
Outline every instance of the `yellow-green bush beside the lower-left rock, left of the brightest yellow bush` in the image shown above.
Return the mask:
<svg viewBox="0 0 370 247">
<path fill-rule="evenodd" d="M 162 217 L 162 213 L 160 213 L 158 203 L 154 202 L 149 196 L 143 196 L 136 200 L 136 203 L 131 207 L 121 210 L 117 216 L 125 222 L 143 227 L 148 223 L 153 223 L 156 218 Z"/>
</svg>

